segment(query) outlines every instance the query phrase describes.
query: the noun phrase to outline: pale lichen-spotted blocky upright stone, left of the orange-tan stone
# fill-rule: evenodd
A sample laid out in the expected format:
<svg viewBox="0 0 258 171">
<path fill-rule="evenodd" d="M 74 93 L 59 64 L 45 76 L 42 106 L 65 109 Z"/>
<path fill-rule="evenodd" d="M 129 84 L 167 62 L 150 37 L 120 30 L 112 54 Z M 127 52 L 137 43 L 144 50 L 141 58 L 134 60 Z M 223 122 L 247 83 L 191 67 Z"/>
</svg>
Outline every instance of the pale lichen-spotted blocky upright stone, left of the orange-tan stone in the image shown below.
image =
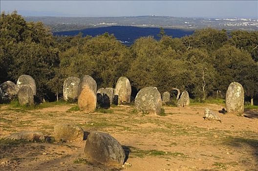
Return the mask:
<svg viewBox="0 0 258 171">
<path fill-rule="evenodd" d="M 80 79 L 77 77 L 68 77 L 64 80 L 63 95 L 64 101 L 78 99 L 78 87 Z"/>
</svg>

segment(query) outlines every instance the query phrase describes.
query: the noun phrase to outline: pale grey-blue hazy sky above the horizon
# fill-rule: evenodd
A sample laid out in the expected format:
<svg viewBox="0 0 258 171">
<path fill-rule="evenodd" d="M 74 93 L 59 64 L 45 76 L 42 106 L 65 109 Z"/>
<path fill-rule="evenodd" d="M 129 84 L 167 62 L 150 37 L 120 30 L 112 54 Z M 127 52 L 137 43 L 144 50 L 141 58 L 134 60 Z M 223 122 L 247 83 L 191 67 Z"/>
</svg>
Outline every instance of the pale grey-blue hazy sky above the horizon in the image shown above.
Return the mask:
<svg viewBox="0 0 258 171">
<path fill-rule="evenodd" d="M 1 11 L 27 16 L 117 17 L 164 15 L 174 17 L 258 18 L 258 0 L 1 0 Z"/>
</svg>

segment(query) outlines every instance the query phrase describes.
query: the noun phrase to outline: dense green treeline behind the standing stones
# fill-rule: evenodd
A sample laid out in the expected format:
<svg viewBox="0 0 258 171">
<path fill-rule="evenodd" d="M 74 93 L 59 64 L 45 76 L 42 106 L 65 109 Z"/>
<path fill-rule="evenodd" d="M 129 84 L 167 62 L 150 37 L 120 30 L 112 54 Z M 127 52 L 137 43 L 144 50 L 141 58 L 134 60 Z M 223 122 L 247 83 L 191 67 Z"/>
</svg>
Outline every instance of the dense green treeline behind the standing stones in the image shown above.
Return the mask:
<svg viewBox="0 0 258 171">
<path fill-rule="evenodd" d="M 201 29 L 181 39 L 143 37 L 127 47 L 113 35 L 54 37 L 42 22 L 26 22 L 16 12 L 0 17 L 0 82 L 31 75 L 41 99 L 62 95 L 68 76 L 91 75 L 100 87 L 120 76 L 134 90 L 156 86 L 162 93 L 186 89 L 204 101 L 239 82 L 246 98 L 258 97 L 258 31 Z"/>
</svg>

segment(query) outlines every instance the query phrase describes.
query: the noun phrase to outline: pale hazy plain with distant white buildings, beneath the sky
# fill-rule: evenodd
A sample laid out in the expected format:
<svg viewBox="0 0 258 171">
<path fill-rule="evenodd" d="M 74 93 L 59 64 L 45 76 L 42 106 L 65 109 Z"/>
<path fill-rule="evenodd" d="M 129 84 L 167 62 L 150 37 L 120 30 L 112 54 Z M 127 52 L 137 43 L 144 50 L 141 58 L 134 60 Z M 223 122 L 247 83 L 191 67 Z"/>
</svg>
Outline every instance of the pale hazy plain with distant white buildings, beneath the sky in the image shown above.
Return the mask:
<svg viewBox="0 0 258 171">
<path fill-rule="evenodd" d="M 52 32 L 80 30 L 112 25 L 164 27 L 175 29 L 217 28 L 227 30 L 258 30 L 258 19 L 180 18 L 169 16 L 137 17 L 24 17 L 26 21 L 42 21 Z"/>
</svg>

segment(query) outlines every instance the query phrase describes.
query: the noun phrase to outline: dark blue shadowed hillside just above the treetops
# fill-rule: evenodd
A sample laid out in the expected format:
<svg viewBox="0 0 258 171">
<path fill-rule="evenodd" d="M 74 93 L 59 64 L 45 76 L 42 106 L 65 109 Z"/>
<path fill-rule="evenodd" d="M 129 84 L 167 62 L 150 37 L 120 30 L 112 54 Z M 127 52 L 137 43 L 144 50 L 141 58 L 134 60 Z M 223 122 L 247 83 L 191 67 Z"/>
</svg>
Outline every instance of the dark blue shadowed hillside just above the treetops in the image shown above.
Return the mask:
<svg viewBox="0 0 258 171">
<path fill-rule="evenodd" d="M 164 29 L 166 35 L 172 36 L 173 38 L 181 38 L 186 35 L 191 35 L 194 30 L 181 30 L 181 29 Z M 154 39 L 159 39 L 157 34 L 160 32 L 160 28 L 152 27 L 134 27 L 134 26 L 108 26 L 108 27 L 98 27 L 98 28 L 87 28 L 84 30 L 73 30 L 73 31 L 62 31 L 55 32 L 54 35 L 59 36 L 75 36 L 80 32 L 83 36 L 97 36 L 108 32 L 109 34 L 114 34 L 117 40 L 126 45 L 131 45 L 136 39 L 140 37 L 153 36 Z"/>
</svg>

